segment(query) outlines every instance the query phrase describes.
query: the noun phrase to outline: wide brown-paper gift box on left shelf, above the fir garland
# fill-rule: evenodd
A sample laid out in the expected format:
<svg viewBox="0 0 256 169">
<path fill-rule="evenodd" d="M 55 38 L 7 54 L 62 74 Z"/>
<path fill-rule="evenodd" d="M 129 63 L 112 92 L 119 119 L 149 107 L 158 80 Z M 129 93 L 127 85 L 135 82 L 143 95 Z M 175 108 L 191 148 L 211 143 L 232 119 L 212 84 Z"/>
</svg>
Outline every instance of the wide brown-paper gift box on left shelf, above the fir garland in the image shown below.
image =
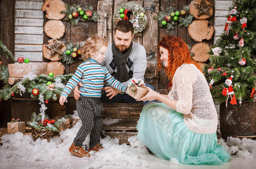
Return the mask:
<svg viewBox="0 0 256 169">
<path fill-rule="evenodd" d="M 47 73 L 47 63 L 13 63 L 8 69 L 10 78 L 23 78 L 29 72 L 38 76 Z"/>
</svg>

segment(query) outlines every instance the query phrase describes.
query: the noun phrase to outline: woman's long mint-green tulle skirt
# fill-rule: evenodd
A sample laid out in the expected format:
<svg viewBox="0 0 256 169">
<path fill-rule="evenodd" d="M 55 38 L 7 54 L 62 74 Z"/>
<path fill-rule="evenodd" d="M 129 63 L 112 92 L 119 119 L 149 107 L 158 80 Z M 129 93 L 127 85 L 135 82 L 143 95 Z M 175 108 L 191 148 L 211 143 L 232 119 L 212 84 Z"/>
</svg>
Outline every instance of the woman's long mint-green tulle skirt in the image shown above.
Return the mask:
<svg viewBox="0 0 256 169">
<path fill-rule="evenodd" d="M 230 154 L 217 144 L 217 134 L 197 134 L 188 130 L 183 114 L 164 103 L 147 103 L 137 124 L 138 139 L 156 156 L 181 164 L 222 165 Z"/>
</svg>

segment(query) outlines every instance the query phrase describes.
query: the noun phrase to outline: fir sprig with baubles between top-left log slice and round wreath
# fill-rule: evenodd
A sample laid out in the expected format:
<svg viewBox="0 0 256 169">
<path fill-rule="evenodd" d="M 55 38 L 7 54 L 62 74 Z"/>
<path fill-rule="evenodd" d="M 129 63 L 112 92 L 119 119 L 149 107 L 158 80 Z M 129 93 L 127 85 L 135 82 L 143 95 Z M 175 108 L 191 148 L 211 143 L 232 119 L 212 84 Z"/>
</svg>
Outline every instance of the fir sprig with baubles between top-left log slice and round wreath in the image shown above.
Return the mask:
<svg viewBox="0 0 256 169">
<path fill-rule="evenodd" d="M 66 15 L 65 20 L 70 20 L 72 25 L 78 25 L 79 21 L 86 22 L 88 20 L 93 20 L 94 22 L 97 22 L 99 19 L 98 12 L 94 11 L 92 6 L 86 6 L 84 9 L 81 9 L 81 11 L 84 12 L 84 15 L 86 15 L 85 13 L 87 10 L 90 10 L 92 12 L 91 17 L 87 17 L 87 16 L 80 14 L 80 12 L 81 12 L 81 11 L 79 11 L 80 5 L 76 5 L 76 4 L 73 4 L 73 5 L 65 4 L 65 5 L 66 5 L 67 10 L 63 10 L 60 13 L 64 13 Z M 73 12 L 78 12 L 77 18 L 72 16 Z"/>
</svg>

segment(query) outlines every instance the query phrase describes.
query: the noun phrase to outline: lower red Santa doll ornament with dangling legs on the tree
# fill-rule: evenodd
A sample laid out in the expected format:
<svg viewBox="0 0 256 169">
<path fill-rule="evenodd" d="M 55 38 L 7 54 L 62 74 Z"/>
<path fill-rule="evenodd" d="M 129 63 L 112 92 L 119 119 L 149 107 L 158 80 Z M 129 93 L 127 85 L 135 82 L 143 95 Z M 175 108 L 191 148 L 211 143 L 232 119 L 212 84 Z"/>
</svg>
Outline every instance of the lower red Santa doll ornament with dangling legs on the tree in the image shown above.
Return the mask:
<svg viewBox="0 0 256 169">
<path fill-rule="evenodd" d="M 227 101 L 228 101 L 229 97 L 231 97 L 230 103 L 232 105 L 236 104 L 235 92 L 233 91 L 233 88 L 232 88 L 233 87 L 233 85 L 232 85 L 233 77 L 234 76 L 231 75 L 230 78 L 226 79 L 225 84 L 222 86 L 222 87 L 224 87 L 222 90 L 222 95 L 227 96 L 226 107 L 227 107 Z"/>
</svg>

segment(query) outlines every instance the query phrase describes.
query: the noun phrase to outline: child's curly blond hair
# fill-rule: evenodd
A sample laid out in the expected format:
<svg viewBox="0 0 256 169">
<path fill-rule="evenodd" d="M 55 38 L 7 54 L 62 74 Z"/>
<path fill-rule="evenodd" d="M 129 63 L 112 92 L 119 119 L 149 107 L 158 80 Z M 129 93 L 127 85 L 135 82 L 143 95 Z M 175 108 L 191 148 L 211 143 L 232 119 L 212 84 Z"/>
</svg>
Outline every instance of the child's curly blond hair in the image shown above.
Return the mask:
<svg viewBox="0 0 256 169">
<path fill-rule="evenodd" d="M 99 48 L 102 46 L 107 46 L 107 40 L 105 38 L 97 35 L 88 38 L 82 47 L 81 58 L 87 61 L 88 58 L 91 58 L 91 51 L 95 53 L 99 51 Z"/>
</svg>

